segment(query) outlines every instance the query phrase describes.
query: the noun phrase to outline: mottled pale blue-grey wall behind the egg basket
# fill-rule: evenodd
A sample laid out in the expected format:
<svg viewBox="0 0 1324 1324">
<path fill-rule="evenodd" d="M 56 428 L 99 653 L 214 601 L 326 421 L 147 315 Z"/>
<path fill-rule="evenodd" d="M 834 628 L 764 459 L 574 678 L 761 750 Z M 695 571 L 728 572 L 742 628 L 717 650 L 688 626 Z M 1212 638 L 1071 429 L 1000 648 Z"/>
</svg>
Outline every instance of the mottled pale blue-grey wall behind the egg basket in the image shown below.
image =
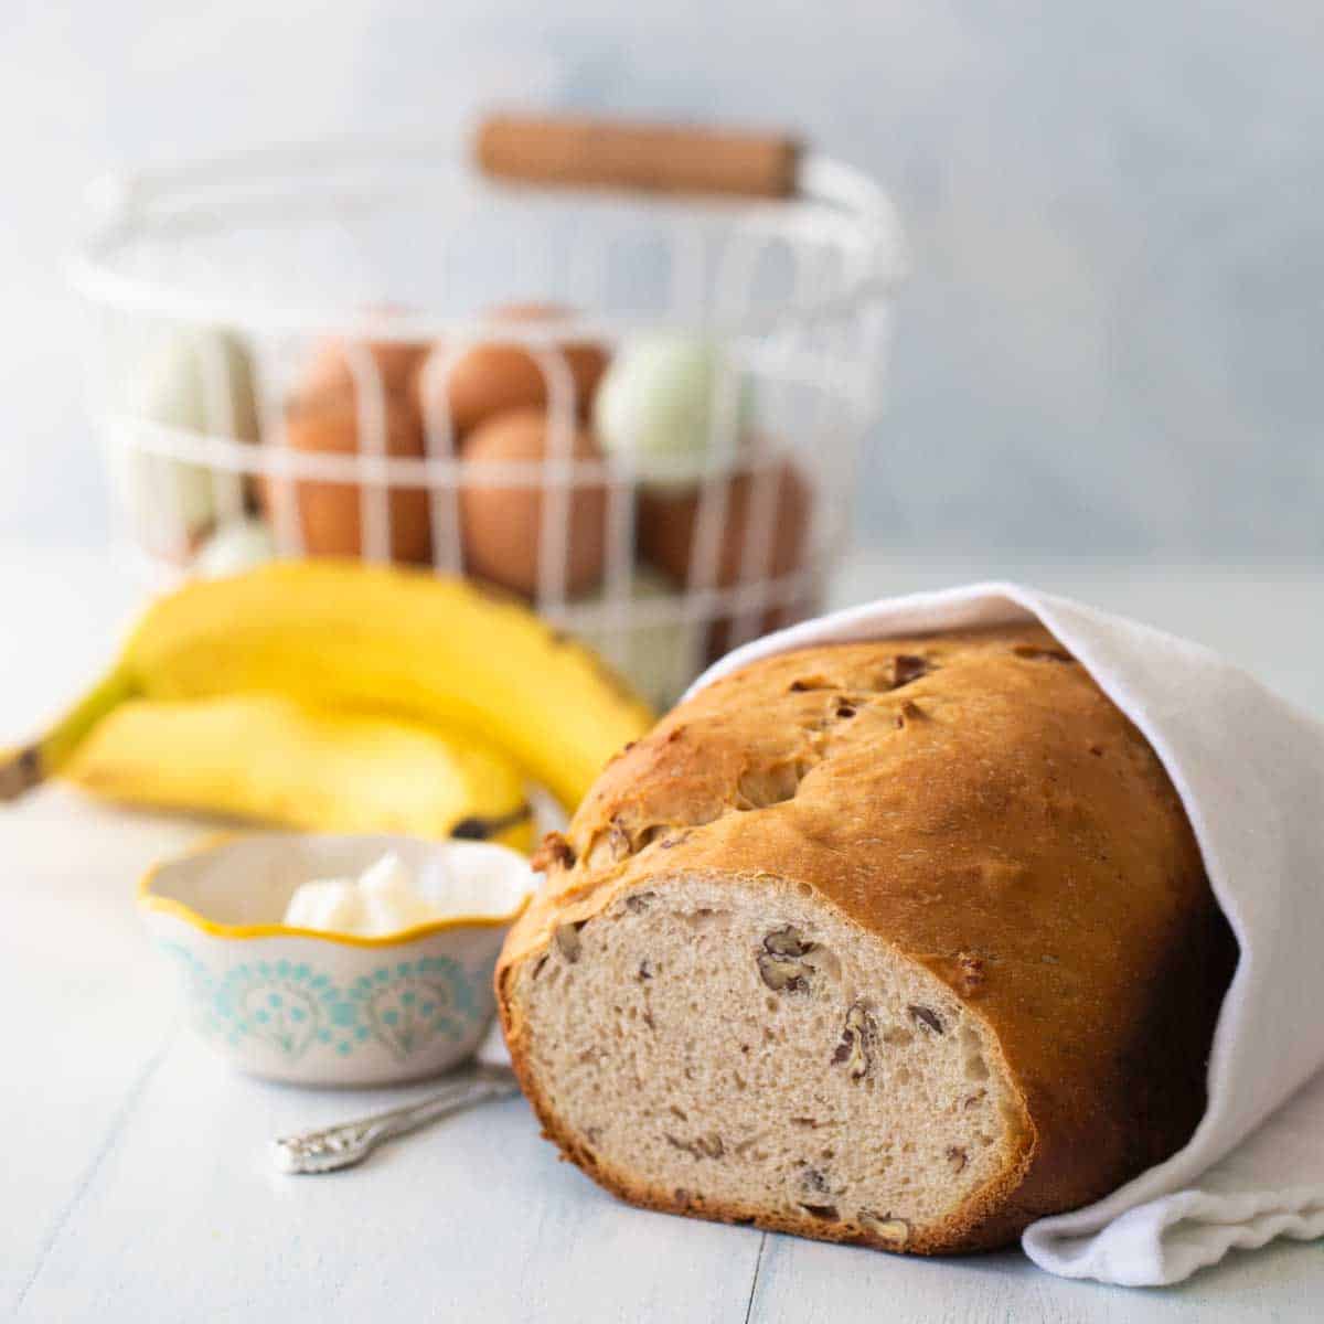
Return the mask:
<svg viewBox="0 0 1324 1324">
<path fill-rule="evenodd" d="M 1324 564 L 1317 0 L 0 0 L 0 538 L 99 542 L 87 179 L 478 105 L 786 124 L 914 271 L 862 536 Z"/>
</svg>

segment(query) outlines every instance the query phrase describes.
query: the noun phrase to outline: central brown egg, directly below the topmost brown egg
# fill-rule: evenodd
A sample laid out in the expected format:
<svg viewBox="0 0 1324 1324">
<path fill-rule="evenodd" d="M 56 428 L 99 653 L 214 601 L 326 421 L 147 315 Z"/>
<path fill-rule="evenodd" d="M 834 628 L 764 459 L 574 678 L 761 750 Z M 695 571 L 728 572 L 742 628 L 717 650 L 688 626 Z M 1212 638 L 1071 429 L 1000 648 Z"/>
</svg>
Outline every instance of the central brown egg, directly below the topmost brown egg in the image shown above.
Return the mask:
<svg viewBox="0 0 1324 1324">
<path fill-rule="evenodd" d="M 466 474 L 459 490 L 459 522 L 465 568 L 481 579 L 526 597 L 538 592 L 538 557 L 543 528 L 544 491 L 535 481 L 519 486 L 481 486 L 467 463 L 543 459 L 548 448 L 547 414 L 515 409 L 478 428 L 462 451 Z M 587 429 L 577 429 L 576 459 L 597 459 Z M 584 485 L 569 491 L 565 591 L 583 593 L 602 576 L 606 551 L 606 489 Z"/>
</svg>

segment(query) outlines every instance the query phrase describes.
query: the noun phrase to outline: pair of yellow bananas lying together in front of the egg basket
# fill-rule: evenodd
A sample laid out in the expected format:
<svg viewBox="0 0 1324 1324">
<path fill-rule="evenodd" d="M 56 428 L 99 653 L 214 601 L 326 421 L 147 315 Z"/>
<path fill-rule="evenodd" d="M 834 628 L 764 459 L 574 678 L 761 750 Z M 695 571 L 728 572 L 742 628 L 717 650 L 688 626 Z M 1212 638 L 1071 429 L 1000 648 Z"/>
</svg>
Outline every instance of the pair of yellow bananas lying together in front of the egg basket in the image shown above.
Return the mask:
<svg viewBox="0 0 1324 1324">
<path fill-rule="evenodd" d="M 131 805 L 527 847 L 651 723 L 585 647 L 459 579 L 287 561 L 158 600 L 0 800 L 60 775 Z"/>
</svg>

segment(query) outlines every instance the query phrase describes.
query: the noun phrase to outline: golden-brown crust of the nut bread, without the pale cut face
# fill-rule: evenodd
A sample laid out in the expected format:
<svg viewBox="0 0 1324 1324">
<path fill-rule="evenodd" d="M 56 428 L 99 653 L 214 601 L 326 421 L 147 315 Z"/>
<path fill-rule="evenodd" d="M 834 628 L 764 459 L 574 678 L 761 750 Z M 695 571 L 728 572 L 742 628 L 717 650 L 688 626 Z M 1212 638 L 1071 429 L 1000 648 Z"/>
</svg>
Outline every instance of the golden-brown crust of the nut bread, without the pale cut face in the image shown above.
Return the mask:
<svg viewBox="0 0 1324 1324">
<path fill-rule="evenodd" d="M 808 887 L 992 1031 L 1019 1143 L 906 1251 L 1005 1245 L 1168 1157 L 1204 1112 L 1235 944 L 1157 756 L 1039 626 L 821 646 L 733 673 L 618 755 L 543 863 L 496 967 L 506 1039 L 547 1137 L 633 1204 L 898 1249 L 647 1189 L 557 1117 L 515 976 L 559 925 L 666 874 Z"/>
</svg>

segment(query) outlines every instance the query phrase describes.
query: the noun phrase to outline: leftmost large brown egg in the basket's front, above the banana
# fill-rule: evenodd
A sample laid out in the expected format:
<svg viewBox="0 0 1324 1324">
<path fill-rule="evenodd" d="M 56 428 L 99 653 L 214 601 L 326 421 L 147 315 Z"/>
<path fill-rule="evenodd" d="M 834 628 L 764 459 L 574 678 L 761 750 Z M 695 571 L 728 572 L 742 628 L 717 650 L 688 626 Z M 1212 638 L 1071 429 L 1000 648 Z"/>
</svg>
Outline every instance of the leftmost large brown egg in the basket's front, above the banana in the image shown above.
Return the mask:
<svg viewBox="0 0 1324 1324">
<path fill-rule="evenodd" d="M 301 396 L 286 409 L 286 438 L 293 450 L 324 455 L 352 455 L 359 450 L 359 416 L 352 391 L 322 391 Z M 409 396 L 387 396 L 387 454 L 420 458 L 424 453 L 418 412 Z M 279 527 L 285 482 L 263 478 L 260 486 L 262 507 L 273 526 Z M 360 486 L 357 483 L 294 483 L 294 496 L 308 556 L 359 556 L 363 552 L 360 528 Z M 393 489 L 388 503 L 391 518 L 391 559 L 428 561 L 432 559 L 432 524 L 428 493 L 421 487 Z"/>
</svg>

